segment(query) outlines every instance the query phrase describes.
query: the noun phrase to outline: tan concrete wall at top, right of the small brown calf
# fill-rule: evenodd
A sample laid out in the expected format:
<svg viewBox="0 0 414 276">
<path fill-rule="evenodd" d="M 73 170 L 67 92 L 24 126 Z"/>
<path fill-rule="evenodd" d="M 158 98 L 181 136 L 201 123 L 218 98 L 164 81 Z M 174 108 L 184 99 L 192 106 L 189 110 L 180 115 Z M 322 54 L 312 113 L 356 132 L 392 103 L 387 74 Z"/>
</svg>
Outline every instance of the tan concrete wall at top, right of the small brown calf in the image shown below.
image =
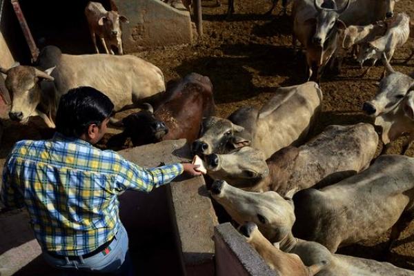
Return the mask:
<svg viewBox="0 0 414 276">
<path fill-rule="evenodd" d="M 177 10 L 160 0 L 114 0 L 119 13 L 130 23 L 122 26 L 124 52 L 137 52 L 140 46 L 169 46 L 191 43 L 190 12 Z"/>
</svg>

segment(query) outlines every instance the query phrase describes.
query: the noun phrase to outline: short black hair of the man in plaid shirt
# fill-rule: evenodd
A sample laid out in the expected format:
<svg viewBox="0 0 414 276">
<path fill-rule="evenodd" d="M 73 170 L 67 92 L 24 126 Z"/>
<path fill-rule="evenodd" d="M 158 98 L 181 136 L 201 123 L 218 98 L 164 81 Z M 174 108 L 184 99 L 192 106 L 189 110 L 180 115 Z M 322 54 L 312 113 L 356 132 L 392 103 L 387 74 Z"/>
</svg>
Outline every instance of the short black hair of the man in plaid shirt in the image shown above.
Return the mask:
<svg viewBox="0 0 414 276">
<path fill-rule="evenodd" d="M 89 86 L 73 88 L 59 101 L 56 130 L 67 137 L 80 137 L 91 124 L 110 117 L 114 104 L 102 92 Z"/>
</svg>

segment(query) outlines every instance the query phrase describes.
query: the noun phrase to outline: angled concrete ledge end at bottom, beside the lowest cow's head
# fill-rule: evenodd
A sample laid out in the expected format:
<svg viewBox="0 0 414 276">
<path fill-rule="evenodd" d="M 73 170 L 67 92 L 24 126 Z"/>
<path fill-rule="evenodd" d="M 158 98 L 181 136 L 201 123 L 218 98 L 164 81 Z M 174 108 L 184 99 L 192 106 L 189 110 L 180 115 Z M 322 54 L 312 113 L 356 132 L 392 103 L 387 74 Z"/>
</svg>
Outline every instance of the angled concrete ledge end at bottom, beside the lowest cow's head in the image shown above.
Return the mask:
<svg viewBox="0 0 414 276">
<path fill-rule="evenodd" d="M 279 276 L 230 223 L 215 227 L 214 241 L 217 276 Z"/>
</svg>

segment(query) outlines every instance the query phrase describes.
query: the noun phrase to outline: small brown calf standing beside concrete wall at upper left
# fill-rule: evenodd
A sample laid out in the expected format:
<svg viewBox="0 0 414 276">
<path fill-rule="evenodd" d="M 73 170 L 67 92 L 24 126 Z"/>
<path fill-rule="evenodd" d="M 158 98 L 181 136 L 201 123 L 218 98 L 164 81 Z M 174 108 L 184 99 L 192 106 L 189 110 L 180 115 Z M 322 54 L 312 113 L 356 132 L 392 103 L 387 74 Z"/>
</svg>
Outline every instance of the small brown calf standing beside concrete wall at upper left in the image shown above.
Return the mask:
<svg viewBox="0 0 414 276">
<path fill-rule="evenodd" d="M 97 47 L 97 37 L 99 37 L 107 54 L 110 53 L 115 55 L 112 50 L 112 46 L 115 46 L 118 49 L 119 55 L 124 55 L 119 21 L 129 23 L 128 19 L 123 15 L 119 15 L 117 10 L 105 10 L 101 3 L 92 1 L 88 2 L 88 5 L 85 8 L 85 15 L 86 20 L 88 20 L 90 36 L 92 37 L 97 54 L 99 54 Z"/>
</svg>

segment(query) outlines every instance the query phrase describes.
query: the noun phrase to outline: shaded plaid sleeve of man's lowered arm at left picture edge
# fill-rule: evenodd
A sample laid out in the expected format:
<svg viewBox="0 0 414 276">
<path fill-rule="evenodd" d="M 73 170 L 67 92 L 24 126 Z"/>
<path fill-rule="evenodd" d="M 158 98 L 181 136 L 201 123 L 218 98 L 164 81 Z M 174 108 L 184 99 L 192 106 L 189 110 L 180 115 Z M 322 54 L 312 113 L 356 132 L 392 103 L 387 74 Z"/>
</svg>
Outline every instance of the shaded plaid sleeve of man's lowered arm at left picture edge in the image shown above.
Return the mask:
<svg viewBox="0 0 414 276">
<path fill-rule="evenodd" d="M 12 182 L 12 174 L 8 168 L 8 162 L 3 168 L 3 185 L 0 191 L 0 200 L 8 208 L 22 208 L 24 206 L 23 195 Z"/>
</svg>

